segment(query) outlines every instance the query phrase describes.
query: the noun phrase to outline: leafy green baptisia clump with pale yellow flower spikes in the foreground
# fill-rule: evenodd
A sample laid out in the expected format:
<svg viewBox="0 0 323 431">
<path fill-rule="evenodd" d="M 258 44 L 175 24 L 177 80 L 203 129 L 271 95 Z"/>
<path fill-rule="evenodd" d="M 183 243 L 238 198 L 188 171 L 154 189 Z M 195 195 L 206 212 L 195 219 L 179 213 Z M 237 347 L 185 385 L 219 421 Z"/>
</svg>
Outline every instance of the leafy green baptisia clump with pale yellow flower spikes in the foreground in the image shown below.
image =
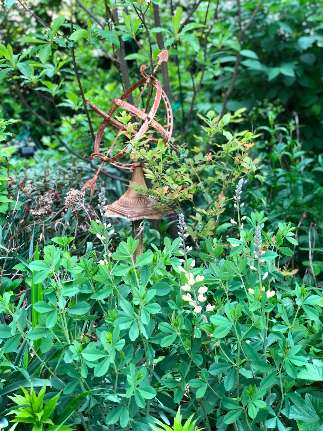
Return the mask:
<svg viewBox="0 0 323 431">
<path fill-rule="evenodd" d="M 138 240 L 112 249 L 101 190 L 102 219 L 90 233 L 102 251 L 92 244 L 78 259 L 70 238 L 55 238 L 43 259 L 19 264 L 40 287 L 31 307 L 23 296 L 0 297 L 3 390 L 43 387 L 56 403 L 50 419 L 39 412 L 43 428 L 166 429 L 179 424 L 180 407 L 190 429 L 320 430 L 312 383 L 323 381 L 322 290 L 281 270 L 295 227 L 270 231 L 264 212 L 243 215 L 242 187 L 229 237 L 205 237 L 196 252 L 180 214 L 179 237 L 136 261 Z M 8 413 L 23 422 L 28 408 Z"/>
</svg>

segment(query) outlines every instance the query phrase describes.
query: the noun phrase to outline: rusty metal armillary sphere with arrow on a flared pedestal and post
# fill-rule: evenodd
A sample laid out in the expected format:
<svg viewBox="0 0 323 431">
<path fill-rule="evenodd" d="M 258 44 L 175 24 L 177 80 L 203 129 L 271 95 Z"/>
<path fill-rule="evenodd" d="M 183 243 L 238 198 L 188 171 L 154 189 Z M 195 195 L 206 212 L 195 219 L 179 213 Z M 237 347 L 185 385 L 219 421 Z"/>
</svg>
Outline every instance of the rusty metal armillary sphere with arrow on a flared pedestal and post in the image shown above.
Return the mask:
<svg viewBox="0 0 323 431">
<path fill-rule="evenodd" d="M 168 61 L 168 51 L 165 50 L 160 52 L 158 54 L 158 57 L 159 57 L 159 60 L 155 67 L 154 73 L 157 67 L 162 62 Z M 96 135 L 96 140 L 94 143 L 94 153 L 91 154 L 91 159 L 95 159 L 97 157 L 102 162 L 96 174 L 93 176 L 93 178 L 87 181 L 84 184 L 84 186 L 81 188 L 81 190 L 90 188 L 91 196 L 93 196 L 96 179 L 98 178 L 99 172 L 103 166 L 103 163 L 105 162 L 111 163 L 113 166 L 116 166 L 122 169 L 133 170 L 130 186 L 128 190 L 120 197 L 119 200 L 115 201 L 111 205 L 107 205 L 105 215 L 106 217 L 122 217 L 132 222 L 132 235 L 133 237 L 138 235 L 138 239 L 140 240 L 135 256 L 141 255 L 143 253 L 143 234 L 142 234 L 143 229 L 140 228 L 143 219 L 161 219 L 164 214 L 172 212 L 171 209 L 166 209 L 165 207 L 161 207 L 160 205 L 158 207 L 158 202 L 152 197 L 145 196 L 144 194 L 140 194 L 137 191 L 135 191 L 133 188 L 131 188 L 131 184 L 137 183 L 141 186 L 142 189 L 147 189 L 145 178 L 143 176 L 143 165 L 145 164 L 145 160 L 135 159 L 133 154 L 130 154 L 130 159 L 132 159 L 131 164 L 118 162 L 119 159 L 124 157 L 127 153 L 131 152 L 132 144 L 128 144 L 127 147 L 124 148 L 124 150 L 122 150 L 120 153 L 116 154 L 115 156 L 109 157 L 109 154 L 111 153 L 111 150 L 114 147 L 118 137 L 125 130 L 125 125 L 121 124 L 121 122 L 119 122 L 117 119 L 112 117 L 116 109 L 118 108 L 118 106 L 127 110 L 130 113 L 130 115 L 133 114 L 143 120 L 143 123 L 139 131 L 132 132 L 135 140 L 139 140 L 140 138 L 144 137 L 147 141 L 157 144 L 158 139 L 151 137 L 149 134 L 145 135 L 149 127 L 154 128 L 159 134 L 161 134 L 162 139 L 164 140 L 165 143 L 169 142 L 171 138 L 171 134 L 173 130 L 173 115 L 172 115 L 170 102 L 168 100 L 168 97 L 162 90 L 162 85 L 158 81 L 158 79 L 156 79 L 155 76 L 153 75 L 151 76 L 146 75 L 145 69 L 146 69 L 145 65 L 142 65 L 140 67 L 140 72 L 143 75 L 143 78 L 141 78 L 135 84 L 131 85 L 131 87 L 129 87 L 119 99 L 114 99 L 113 100 L 114 104 L 107 114 L 106 112 L 103 112 L 101 109 L 99 109 L 93 103 L 87 101 L 87 104 L 90 106 L 90 108 L 103 118 L 102 124 Z M 152 85 L 153 87 L 155 87 L 155 90 L 156 90 L 155 100 L 148 114 L 136 108 L 136 104 L 138 100 L 140 100 L 143 94 L 143 91 L 145 91 L 147 85 Z M 134 105 L 130 105 L 130 103 L 125 102 L 125 99 L 127 99 L 127 97 L 134 90 L 142 86 L 143 88 L 140 91 L 140 94 L 137 97 L 137 100 L 135 101 Z M 165 109 L 166 109 L 167 124 L 165 128 L 162 127 L 162 125 L 160 125 L 158 122 L 154 120 L 154 116 L 157 112 L 161 99 L 163 100 L 165 104 Z M 114 141 L 112 142 L 111 146 L 109 147 L 108 152 L 106 154 L 102 154 L 100 153 L 100 142 L 102 139 L 104 129 L 106 128 L 108 123 L 118 128 L 119 132 L 115 137 Z"/>
</svg>

